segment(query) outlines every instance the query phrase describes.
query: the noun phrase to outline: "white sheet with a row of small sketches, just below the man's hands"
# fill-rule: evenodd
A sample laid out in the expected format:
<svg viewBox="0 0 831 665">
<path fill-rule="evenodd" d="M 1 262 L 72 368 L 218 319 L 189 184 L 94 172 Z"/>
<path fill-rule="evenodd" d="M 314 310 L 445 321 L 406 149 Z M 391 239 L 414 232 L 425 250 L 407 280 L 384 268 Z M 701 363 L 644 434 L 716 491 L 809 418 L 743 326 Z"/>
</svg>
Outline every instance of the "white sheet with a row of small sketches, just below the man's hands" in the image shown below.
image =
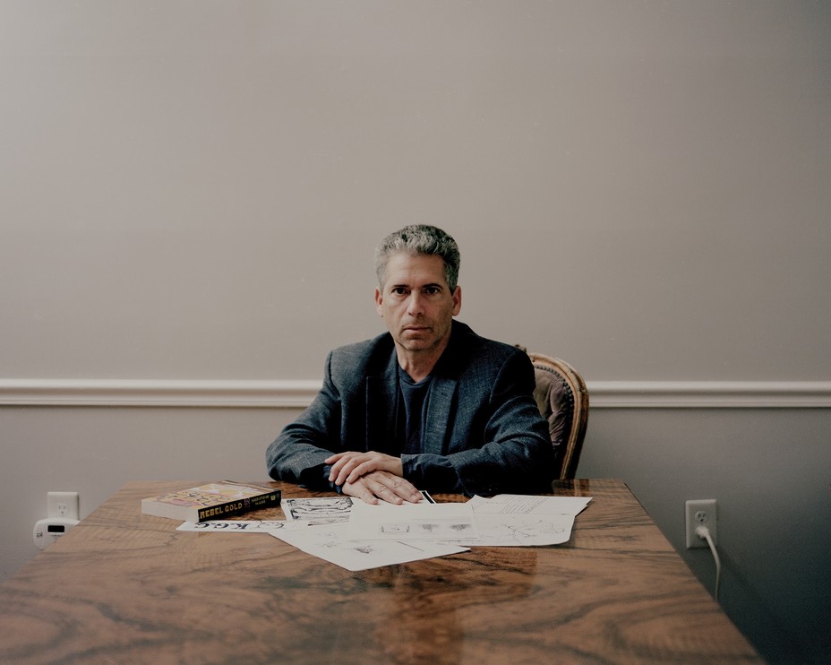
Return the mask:
<svg viewBox="0 0 831 665">
<path fill-rule="evenodd" d="M 401 505 L 356 501 L 349 516 L 356 540 L 455 540 L 478 535 L 473 510 L 465 504 Z"/>
</svg>

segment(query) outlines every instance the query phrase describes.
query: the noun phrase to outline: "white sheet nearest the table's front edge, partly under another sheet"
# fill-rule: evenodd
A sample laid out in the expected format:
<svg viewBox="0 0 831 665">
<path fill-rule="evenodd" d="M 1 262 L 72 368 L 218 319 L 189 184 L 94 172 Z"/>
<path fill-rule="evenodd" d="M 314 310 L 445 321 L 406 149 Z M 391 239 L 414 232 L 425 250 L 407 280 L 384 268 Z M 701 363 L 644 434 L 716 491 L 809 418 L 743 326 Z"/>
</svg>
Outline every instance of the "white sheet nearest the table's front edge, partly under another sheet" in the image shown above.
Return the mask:
<svg viewBox="0 0 831 665">
<path fill-rule="evenodd" d="M 403 564 L 465 552 L 458 545 L 432 540 L 350 540 L 349 524 L 319 524 L 305 529 L 271 531 L 272 536 L 307 554 L 351 571 Z"/>
</svg>

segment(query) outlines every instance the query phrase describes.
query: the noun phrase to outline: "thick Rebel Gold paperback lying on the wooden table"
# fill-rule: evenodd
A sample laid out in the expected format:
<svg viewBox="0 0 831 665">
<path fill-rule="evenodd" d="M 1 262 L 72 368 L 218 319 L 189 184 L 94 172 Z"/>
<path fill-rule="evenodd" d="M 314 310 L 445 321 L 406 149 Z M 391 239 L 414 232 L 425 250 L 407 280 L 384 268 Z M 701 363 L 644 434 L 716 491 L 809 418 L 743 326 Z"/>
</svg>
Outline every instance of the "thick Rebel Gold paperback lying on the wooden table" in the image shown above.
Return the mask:
<svg viewBox="0 0 831 665">
<path fill-rule="evenodd" d="M 279 489 L 233 480 L 141 499 L 141 512 L 182 522 L 205 522 L 280 505 Z"/>
</svg>

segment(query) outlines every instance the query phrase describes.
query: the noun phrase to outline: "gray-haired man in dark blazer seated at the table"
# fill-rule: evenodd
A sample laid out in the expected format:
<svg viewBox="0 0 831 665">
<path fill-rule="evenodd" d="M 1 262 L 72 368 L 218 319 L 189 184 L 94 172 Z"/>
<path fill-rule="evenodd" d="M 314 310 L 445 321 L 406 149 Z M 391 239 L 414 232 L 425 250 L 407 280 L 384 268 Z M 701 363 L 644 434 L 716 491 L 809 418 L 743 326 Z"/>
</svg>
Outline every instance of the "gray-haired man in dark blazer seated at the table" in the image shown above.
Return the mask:
<svg viewBox="0 0 831 665">
<path fill-rule="evenodd" d="M 367 503 L 419 489 L 493 495 L 551 489 L 554 456 L 522 351 L 454 321 L 456 241 L 400 229 L 375 251 L 388 333 L 330 352 L 321 392 L 269 446 L 274 479 Z"/>
</svg>

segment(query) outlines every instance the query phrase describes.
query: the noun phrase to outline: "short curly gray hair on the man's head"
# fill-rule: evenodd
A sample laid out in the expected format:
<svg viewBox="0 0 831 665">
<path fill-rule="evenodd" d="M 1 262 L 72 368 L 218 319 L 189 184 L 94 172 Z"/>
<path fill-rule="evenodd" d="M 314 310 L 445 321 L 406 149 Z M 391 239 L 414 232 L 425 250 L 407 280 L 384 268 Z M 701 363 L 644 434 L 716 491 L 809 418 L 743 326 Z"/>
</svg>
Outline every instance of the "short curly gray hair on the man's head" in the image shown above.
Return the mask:
<svg viewBox="0 0 831 665">
<path fill-rule="evenodd" d="M 428 224 L 413 224 L 398 229 L 381 240 L 375 247 L 375 273 L 378 275 L 381 289 L 386 279 L 390 256 L 396 254 L 440 256 L 444 262 L 444 279 L 451 292 L 456 290 L 461 255 L 458 253 L 456 241 L 441 229 Z"/>
</svg>

